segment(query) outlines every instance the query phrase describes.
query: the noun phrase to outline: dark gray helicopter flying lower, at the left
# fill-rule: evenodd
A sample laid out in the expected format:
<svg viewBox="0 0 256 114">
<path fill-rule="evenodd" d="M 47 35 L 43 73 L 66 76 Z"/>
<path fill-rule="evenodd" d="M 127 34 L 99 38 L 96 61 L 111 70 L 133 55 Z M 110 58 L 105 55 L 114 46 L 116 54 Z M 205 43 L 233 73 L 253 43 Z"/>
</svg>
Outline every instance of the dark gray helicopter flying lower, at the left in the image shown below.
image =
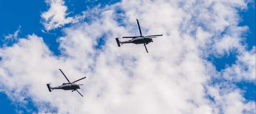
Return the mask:
<svg viewBox="0 0 256 114">
<path fill-rule="evenodd" d="M 60 69 L 59 69 L 60 70 Z M 64 75 L 64 73 L 60 70 L 60 72 Z M 64 75 L 64 77 L 68 80 L 68 78 Z M 83 77 L 82 79 L 85 79 L 86 77 Z M 80 80 L 82 80 L 82 79 L 79 79 L 79 80 L 77 80 L 77 81 L 80 81 Z M 48 84 L 46 84 L 47 85 L 47 87 L 48 87 L 48 90 L 50 91 L 50 92 L 52 92 L 52 90 L 54 90 L 54 89 L 63 89 L 63 90 L 72 90 L 72 92 L 73 91 L 77 91 L 81 96 L 83 96 L 77 89 L 80 89 L 80 85 L 77 85 L 77 84 L 75 84 L 75 82 L 77 82 L 77 81 L 74 81 L 74 82 L 70 82 L 69 80 L 68 80 L 68 83 L 63 83 L 61 86 L 56 86 L 56 87 L 51 87 L 50 86 L 50 83 L 48 83 Z"/>
</svg>

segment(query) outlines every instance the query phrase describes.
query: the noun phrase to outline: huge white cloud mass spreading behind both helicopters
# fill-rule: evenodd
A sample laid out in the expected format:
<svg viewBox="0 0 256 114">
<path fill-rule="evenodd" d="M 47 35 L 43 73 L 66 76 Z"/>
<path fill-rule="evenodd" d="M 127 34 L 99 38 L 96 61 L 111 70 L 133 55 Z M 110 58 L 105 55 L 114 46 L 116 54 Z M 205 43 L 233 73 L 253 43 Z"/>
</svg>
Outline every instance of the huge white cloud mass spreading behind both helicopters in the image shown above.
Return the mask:
<svg viewBox="0 0 256 114">
<path fill-rule="evenodd" d="M 64 4 L 54 2 L 61 7 Z M 246 27 L 238 27 L 237 10 L 246 8 L 246 4 L 241 0 L 124 0 L 102 9 L 96 7 L 83 13 L 84 18 L 90 16 L 90 23 L 63 29 L 65 35 L 58 38 L 59 56 L 52 55 L 36 35 L 19 39 L 12 47 L 0 48 L 2 91 L 13 101 L 24 102 L 24 98 L 31 97 L 39 113 L 52 110 L 45 102 L 56 106 L 58 113 L 229 114 L 244 110 L 253 113 L 255 102 L 245 102 L 240 89 L 229 86 L 234 80 L 223 85 L 209 84 L 214 75 L 224 75 L 204 59 L 209 54 L 222 56 L 237 49 L 241 50 L 237 61 L 250 69 L 255 67 L 250 63 L 255 51 L 246 51 L 241 43 Z M 67 19 L 65 8 L 59 20 Z M 117 14 L 117 9 L 123 12 Z M 51 7 L 49 11 L 53 12 Z M 50 16 L 55 16 L 55 12 Z M 149 54 L 143 45 L 117 47 L 113 39 L 138 35 L 135 19 L 140 21 L 144 35 L 164 34 L 148 45 Z M 97 39 L 103 36 L 105 45 L 95 49 Z M 226 45 L 216 46 L 220 44 Z M 87 77 L 79 82 L 84 84 L 80 89 L 83 98 L 76 92 L 48 92 L 46 83 L 58 86 L 66 82 L 59 68 L 71 81 Z M 230 71 L 234 71 L 233 66 Z M 207 96 L 214 97 L 214 101 Z"/>
</svg>

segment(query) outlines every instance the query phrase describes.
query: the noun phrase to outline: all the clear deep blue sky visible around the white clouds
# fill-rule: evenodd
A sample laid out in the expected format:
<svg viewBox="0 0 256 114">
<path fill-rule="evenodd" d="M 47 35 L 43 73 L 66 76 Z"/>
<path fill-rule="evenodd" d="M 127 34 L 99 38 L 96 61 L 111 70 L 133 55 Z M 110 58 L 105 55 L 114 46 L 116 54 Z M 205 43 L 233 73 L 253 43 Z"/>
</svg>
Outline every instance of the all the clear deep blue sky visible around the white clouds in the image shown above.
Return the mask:
<svg viewBox="0 0 256 114">
<path fill-rule="evenodd" d="M 104 7 L 106 4 L 113 4 L 118 2 L 116 0 L 98 0 L 96 2 L 84 2 L 85 0 L 66 0 L 65 5 L 68 7 L 68 12 L 70 14 L 68 16 L 74 16 L 79 14 L 81 11 L 87 10 L 87 8 L 93 8 L 98 4 L 101 4 Z M 255 2 L 255 1 L 254 1 Z M 4 36 L 8 34 L 13 34 L 20 27 L 20 32 L 18 33 L 18 37 L 26 37 L 28 34 L 36 34 L 39 37 L 42 37 L 44 43 L 49 47 L 49 49 L 54 53 L 54 55 L 60 55 L 60 51 L 58 50 L 59 43 L 56 39 L 62 34 L 62 28 L 56 28 L 54 30 L 50 30 L 49 33 L 44 33 L 42 30 L 44 26 L 40 23 L 41 13 L 47 11 L 49 6 L 44 2 L 44 0 L 1 0 L 0 1 L 0 14 L 2 15 L 0 18 L 0 47 L 6 43 L 4 41 Z M 248 26 L 250 31 L 244 34 L 246 37 L 246 43 L 248 44 L 247 50 L 251 50 L 253 46 L 256 45 L 256 10 L 255 6 L 252 4 L 249 5 L 248 10 L 241 11 L 240 16 L 242 20 L 239 26 Z M 66 24 L 65 27 L 69 27 L 70 24 Z M 13 41 L 8 43 L 8 46 L 12 46 Z M 100 43 L 104 43 L 104 41 L 100 40 Z M 232 65 L 237 60 L 237 53 L 226 54 L 223 57 L 209 57 L 209 61 L 211 61 L 217 71 L 221 71 L 226 67 L 226 65 Z M 239 88 L 244 90 L 244 98 L 247 100 L 256 101 L 256 86 L 254 83 L 248 82 L 239 82 L 235 83 Z M 17 102 L 12 102 L 4 92 L 0 92 L 0 109 L 3 114 L 13 114 L 16 113 L 15 110 L 22 110 L 25 113 L 30 113 L 28 110 L 24 109 L 22 106 L 17 105 Z M 34 106 L 32 100 L 28 98 L 28 103 L 26 107 L 33 112 L 37 112 L 38 110 Z"/>
</svg>

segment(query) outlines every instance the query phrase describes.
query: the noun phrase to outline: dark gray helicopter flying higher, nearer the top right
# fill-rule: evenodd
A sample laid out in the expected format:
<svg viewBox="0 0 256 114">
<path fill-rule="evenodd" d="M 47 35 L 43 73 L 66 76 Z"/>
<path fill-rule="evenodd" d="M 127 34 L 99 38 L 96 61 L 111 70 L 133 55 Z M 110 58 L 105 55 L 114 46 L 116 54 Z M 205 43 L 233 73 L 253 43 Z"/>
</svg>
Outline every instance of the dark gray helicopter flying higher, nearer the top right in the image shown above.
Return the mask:
<svg viewBox="0 0 256 114">
<path fill-rule="evenodd" d="M 137 20 L 137 19 L 136 19 Z M 137 23 L 138 23 L 138 27 L 139 27 L 139 30 L 140 30 L 140 24 L 139 24 L 139 21 L 137 20 Z M 148 49 L 146 47 L 146 45 L 150 42 L 153 42 L 153 39 L 154 37 L 156 36 L 162 36 L 161 35 L 147 35 L 147 36 L 143 36 L 142 33 L 141 33 L 141 30 L 140 30 L 140 36 L 128 36 L 128 37 L 123 37 L 123 38 L 132 38 L 128 41 L 119 41 L 118 38 L 116 38 L 116 43 L 118 45 L 118 47 L 120 47 L 122 44 L 124 43 L 135 43 L 135 44 L 144 44 L 145 48 L 146 48 L 146 51 L 148 53 Z M 121 43 L 121 45 L 120 45 Z"/>
</svg>

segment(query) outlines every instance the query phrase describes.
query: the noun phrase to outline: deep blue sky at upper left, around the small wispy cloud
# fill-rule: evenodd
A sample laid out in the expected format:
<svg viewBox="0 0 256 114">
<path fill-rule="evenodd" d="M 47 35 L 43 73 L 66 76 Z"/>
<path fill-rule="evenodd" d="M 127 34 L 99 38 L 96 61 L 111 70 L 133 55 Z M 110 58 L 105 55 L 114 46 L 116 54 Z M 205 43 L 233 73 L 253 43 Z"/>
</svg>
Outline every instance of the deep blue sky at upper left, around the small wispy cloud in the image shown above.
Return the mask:
<svg viewBox="0 0 256 114">
<path fill-rule="evenodd" d="M 95 2 L 84 2 L 84 0 L 66 1 L 65 5 L 68 6 L 68 12 L 71 12 L 69 16 L 74 16 L 75 14 L 79 14 L 81 11 L 86 10 L 87 8 L 93 8 L 94 6 L 101 5 L 104 7 L 107 4 L 113 4 L 118 0 L 97 0 Z M 15 3 L 15 4 L 13 4 Z M 22 5 L 21 5 L 22 4 Z M 49 6 L 44 2 L 28 0 L 28 1 L 16 1 L 16 0 L 8 0 L 1 1 L 1 14 L 5 18 L 1 18 L 1 25 L 3 28 L 0 29 L 1 39 L 4 38 L 4 35 L 12 34 L 16 31 L 19 26 L 21 26 L 21 30 L 19 32 L 19 37 L 25 37 L 28 34 L 36 34 L 40 37 L 44 38 L 44 42 L 48 45 L 50 50 L 58 55 L 58 42 L 56 42 L 56 38 L 62 36 L 62 32 L 60 28 L 49 31 L 48 33 L 43 33 L 44 26 L 40 23 L 41 21 L 41 13 L 45 12 Z M 18 9 L 18 10 L 17 10 Z M 66 25 L 68 26 L 68 25 Z M 65 27 L 65 26 L 64 26 Z M 4 42 L 1 41 L 0 45 Z"/>
</svg>

